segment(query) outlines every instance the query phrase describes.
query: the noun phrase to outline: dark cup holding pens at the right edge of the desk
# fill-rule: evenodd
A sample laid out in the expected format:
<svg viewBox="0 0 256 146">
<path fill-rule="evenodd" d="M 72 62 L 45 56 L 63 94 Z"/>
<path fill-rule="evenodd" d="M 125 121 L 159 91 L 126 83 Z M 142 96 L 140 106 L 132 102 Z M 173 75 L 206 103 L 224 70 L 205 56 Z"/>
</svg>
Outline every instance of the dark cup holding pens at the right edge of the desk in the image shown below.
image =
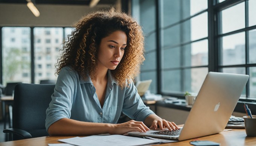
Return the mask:
<svg viewBox="0 0 256 146">
<path fill-rule="evenodd" d="M 244 116 L 244 127 L 247 136 L 256 136 L 256 116 Z"/>
</svg>

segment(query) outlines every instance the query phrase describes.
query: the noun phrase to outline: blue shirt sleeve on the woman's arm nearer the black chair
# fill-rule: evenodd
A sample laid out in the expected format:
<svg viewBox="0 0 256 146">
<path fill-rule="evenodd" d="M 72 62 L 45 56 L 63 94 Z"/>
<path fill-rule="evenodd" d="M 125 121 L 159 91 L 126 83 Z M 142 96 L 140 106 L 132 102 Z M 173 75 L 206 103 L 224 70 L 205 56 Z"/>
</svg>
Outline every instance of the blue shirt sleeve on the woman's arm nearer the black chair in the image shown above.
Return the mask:
<svg viewBox="0 0 256 146">
<path fill-rule="evenodd" d="M 54 122 L 70 118 L 76 79 L 75 71 L 72 68 L 64 67 L 59 72 L 52 101 L 46 109 L 47 131 Z"/>
</svg>

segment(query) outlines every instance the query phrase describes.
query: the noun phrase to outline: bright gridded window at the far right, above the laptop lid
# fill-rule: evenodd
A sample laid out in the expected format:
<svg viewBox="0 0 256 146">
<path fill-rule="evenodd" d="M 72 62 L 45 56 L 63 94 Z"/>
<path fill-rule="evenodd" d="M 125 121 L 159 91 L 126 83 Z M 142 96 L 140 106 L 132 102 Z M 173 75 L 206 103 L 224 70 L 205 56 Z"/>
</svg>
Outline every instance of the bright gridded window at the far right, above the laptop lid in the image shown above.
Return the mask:
<svg viewBox="0 0 256 146">
<path fill-rule="evenodd" d="M 256 1 L 216 5 L 219 71 L 250 76 L 241 97 L 256 98 Z"/>
</svg>

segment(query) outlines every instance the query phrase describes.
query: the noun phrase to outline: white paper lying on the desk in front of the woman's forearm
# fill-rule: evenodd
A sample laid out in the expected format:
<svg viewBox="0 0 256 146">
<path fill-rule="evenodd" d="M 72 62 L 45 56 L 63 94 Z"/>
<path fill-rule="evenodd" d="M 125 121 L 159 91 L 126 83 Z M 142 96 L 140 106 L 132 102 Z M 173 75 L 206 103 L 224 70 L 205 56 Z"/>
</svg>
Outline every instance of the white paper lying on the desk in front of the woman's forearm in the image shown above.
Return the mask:
<svg viewBox="0 0 256 146">
<path fill-rule="evenodd" d="M 125 135 L 92 135 L 87 137 L 59 139 L 58 141 L 76 146 L 138 146 L 158 143 L 157 140 L 130 137 Z"/>
</svg>

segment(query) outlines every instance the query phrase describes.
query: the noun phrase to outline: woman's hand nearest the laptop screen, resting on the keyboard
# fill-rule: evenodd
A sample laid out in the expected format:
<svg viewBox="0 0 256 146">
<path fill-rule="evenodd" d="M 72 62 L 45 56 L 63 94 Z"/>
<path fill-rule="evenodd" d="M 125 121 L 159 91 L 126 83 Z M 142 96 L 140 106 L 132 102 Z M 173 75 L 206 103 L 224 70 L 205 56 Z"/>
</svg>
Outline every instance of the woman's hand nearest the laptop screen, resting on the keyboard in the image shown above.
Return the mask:
<svg viewBox="0 0 256 146">
<path fill-rule="evenodd" d="M 168 128 L 170 131 L 180 129 L 174 122 L 169 122 L 164 119 L 156 119 L 152 122 L 150 128 L 157 129 L 159 127 L 163 130 L 163 128 Z"/>
</svg>

